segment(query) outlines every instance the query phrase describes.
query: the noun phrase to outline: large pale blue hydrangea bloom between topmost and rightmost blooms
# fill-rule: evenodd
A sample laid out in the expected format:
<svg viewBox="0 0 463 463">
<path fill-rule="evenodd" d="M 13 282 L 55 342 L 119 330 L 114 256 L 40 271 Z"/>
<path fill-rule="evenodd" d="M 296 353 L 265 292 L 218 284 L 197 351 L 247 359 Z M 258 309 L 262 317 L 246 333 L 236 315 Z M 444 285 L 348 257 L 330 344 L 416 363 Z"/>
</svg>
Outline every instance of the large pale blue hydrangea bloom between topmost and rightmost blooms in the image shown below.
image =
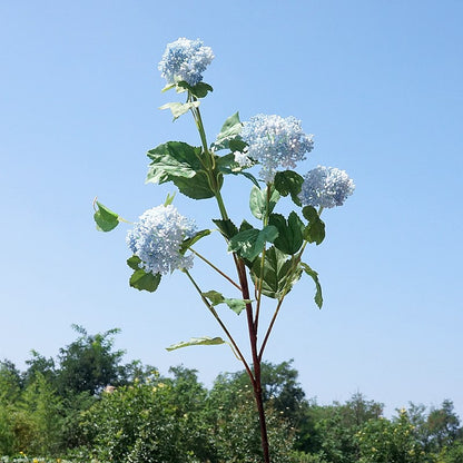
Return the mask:
<svg viewBox="0 0 463 463">
<path fill-rule="evenodd" d="M 248 144 L 247 156 L 262 165 L 267 184 L 280 168 L 295 168 L 314 147 L 313 136 L 304 134 L 301 120 L 293 116 L 257 115 L 244 122 L 242 134 Z"/>
</svg>

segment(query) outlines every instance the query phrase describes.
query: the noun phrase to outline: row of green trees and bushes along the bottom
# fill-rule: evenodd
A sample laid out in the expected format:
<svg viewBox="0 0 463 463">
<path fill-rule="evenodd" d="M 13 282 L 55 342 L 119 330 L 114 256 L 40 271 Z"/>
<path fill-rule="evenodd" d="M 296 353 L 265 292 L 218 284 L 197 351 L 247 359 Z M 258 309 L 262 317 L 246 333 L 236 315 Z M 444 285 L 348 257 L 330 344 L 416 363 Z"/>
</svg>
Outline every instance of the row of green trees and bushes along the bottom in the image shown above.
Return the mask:
<svg viewBox="0 0 463 463">
<path fill-rule="evenodd" d="M 32 351 L 26 371 L 0 362 L 0 457 L 144 463 L 262 462 L 245 372 L 210 388 L 197 372 L 162 376 L 114 348 L 118 329 L 78 338 L 56 358 Z M 408 403 L 387 418 L 361 393 L 345 403 L 307 398 L 292 362 L 263 364 L 275 463 L 462 463 L 463 427 L 450 400 Z M 2 461 L 0 459 L 0 461 Z"/>
</svg>

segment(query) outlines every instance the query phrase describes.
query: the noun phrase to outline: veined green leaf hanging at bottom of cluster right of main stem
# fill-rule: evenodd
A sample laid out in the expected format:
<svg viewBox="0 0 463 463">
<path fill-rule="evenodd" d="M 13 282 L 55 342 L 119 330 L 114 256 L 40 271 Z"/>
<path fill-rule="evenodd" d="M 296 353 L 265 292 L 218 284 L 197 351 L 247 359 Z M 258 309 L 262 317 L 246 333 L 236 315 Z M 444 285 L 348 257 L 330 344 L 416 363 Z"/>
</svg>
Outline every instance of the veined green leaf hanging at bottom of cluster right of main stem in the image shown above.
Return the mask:
<svg viewBox="0 0 463 463">
<path fill-rule="evenodd" d="M 260 278 L 260 259 L 254 262 L 250 276 L 254 284 Z M 274 299 L 279 299 L 283 295 L 289 293 L 294 283 L 299 279 L 299 272 L 292 272 L 293 259 L 272 246 L 265 252 L 262 293 Z"/>
</svg>

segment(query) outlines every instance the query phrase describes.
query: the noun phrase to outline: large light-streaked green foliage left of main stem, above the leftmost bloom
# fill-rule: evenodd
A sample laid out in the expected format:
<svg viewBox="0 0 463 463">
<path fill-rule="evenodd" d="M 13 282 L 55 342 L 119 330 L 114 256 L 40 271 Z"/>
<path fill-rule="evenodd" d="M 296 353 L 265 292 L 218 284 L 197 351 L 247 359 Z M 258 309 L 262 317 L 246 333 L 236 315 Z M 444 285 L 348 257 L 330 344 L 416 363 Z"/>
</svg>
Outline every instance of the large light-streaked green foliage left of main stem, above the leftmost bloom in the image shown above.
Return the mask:
<svg viewBox="0 0 463 463">
<path fill-rule="evenodd" d="M 148 167 L 147 183 L 164 184 L 173 181 L 179 191 L 193 199 L 211 198 L 208 177 L 199 160 L 201 148 L 183 141 L 168 141 L 148 151 L 151 162 Z M 223 178 L 218 178 L 221 186 Z"/>
</svg>

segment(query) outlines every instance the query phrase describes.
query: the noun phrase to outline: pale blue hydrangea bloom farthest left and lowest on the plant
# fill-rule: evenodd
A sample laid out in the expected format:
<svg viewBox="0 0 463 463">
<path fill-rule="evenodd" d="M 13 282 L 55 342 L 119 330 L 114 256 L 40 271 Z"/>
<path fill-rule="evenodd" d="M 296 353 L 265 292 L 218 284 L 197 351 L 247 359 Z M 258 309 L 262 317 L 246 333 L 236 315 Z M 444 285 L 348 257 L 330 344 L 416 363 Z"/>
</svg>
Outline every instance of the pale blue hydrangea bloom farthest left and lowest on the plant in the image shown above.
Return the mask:
<svg viewBox="0 0 463 463">
<path fill-rule="evenodd" d="M 176 268 L 191 268 L 193 255 L 181 255 L 180 246 L 195 232 L 194 221 L 181 216 L 173 205 L 158 206 L 140 216 L 126 240 L 145 272 L 168 274 Z"/>
</svg>

